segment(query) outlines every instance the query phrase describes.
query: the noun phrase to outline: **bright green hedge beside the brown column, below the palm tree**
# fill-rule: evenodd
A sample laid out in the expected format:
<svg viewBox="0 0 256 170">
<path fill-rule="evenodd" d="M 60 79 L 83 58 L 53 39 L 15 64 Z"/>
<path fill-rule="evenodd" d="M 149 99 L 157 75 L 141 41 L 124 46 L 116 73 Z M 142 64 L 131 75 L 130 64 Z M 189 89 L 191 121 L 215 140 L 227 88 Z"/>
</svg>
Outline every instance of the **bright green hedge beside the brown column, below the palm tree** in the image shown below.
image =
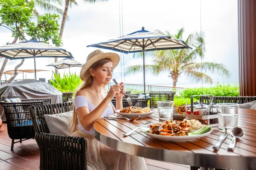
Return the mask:
<svg viewBox="0 0 256 170">
<path fill-rule="evenodd" d="M 180 92 L 182 98 L 190 98 L 192 95 L 212 94 L 213 96 L 239 96 L 238 85 L 217 84 L 210 88 L 186 88 Z M 199 99 L 200 96 L 196 97 Z"/>
</svg>

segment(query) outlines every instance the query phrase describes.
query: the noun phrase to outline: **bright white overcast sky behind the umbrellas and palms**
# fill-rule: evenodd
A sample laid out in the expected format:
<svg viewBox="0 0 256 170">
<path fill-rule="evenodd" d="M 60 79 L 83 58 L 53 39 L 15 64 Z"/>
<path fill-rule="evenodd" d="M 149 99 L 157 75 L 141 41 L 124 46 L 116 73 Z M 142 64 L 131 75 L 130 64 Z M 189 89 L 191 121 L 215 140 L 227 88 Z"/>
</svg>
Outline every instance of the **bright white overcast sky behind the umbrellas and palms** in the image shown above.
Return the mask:
<svg viewBox="0 0 256 170">
<path fill-rule="evenodd" d="M 70 51 L 79 62 L 84 63 L 88 54 L 98 49 L 87 48 L 87 45 L 113 39 L 122 34 L 130 34 L 140 30 L 142 26 L 148 31 L 168 30 L 171 34 L 175 34 L 183 27 L 184 40 L 190 33 L 204 32 L 206 53 L 203 62 L 222 63 L 230 71 L 229 79 L 207 73 L 212 77 L 213 85 L 216 82 L 238 83 L 239 81 L 237 0 L 109 0 L 95 4 L 84 3 L 83 0 L 77 2 L 78 6 L 72 6 L 68 11 L 69 20 L 65 24 L 62 47 Z M 38 10 L 43 13 L 41 9 Z M 61 23 L 61 20 L 59 22 Z M 0 27 L 0 46 L 12 40 L 11 32 Z M 122 58 L 122 70 L 120 62 L 113 72 L 113 78 L 127 84 L 143 84 L 143 73 L 125 75 L 125 77 L 123 74 L 128 66 L 143 64 L 143 59 L 134 54 L 118 54 Z M 0 59 L 0 65 L 3 60 Z M 9 60 L 5 71 L 13 70 L 19 62 L 20 60 Z M 53 67 L 46 66 L 52 62 L 54 62 L 52 57 L 36 59 L 37 69 L 49 70 L 38 72 L 38 78 L 52 77 Z M 198 62 L 201 62 L 201 59 Z M 146 64 L 151 63 L 151 59 L 146 58 Z M 33 59 L 26 59 L 20 69 L 33 69 L 33 65 Z M 80 69 L 70 68 L 70 72 L 79 74 Z M 68 69 L 61 69 L 59 72 L 68 73 Z M 168 73 L 161 73 L 159 76 L 146 74 L 146 84 L 172 86 L 172 79 L 168 75 Z M 33 78 L 34 74 L 25 74 L 24 77 Z M 7 75 L 7 79 L 9 78 L 10 75 Z M 5 77 L 3 76 L 2 79 Z M 22 79 L 22 74 L 18 74 L 16 79 Z M 200 86 L 202 86 L 201 82 L 195 82 L 183 74 L 177 82 L 177 87 Z M 210 85 L 203 84 L 203 86 Z"/>
</svg>

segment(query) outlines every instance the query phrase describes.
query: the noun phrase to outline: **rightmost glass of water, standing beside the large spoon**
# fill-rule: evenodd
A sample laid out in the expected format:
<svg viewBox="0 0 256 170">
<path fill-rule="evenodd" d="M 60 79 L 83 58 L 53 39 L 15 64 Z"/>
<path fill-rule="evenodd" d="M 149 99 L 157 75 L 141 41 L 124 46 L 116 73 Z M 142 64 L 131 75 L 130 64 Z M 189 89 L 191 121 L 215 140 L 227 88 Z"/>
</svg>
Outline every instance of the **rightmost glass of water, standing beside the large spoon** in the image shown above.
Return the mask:
<svg viewBox="0 0 256 170">
<path fill-rule="evenodd" d="M 230 132 L 238 125 L 239 104 L 221 103 L 217 104 L 219 130 Z"/>
</svg>

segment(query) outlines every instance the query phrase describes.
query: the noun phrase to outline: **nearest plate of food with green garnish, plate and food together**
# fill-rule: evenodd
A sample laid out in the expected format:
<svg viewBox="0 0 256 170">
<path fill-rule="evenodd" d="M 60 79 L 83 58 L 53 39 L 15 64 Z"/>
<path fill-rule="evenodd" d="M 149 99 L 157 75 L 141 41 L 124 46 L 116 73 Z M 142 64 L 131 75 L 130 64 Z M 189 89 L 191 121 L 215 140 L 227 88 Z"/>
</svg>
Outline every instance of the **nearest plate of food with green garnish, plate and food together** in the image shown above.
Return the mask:
<svg viewBox="0 0 256 170">
<path fill-rule="evenodd" d="M 203 125 L 198 120 L 169 120 L 144 125 L 141 131 L 148 136 L 165 141 L 184 142 L 202 138 L 212 132 L 212 127 Z"/>
</svg>

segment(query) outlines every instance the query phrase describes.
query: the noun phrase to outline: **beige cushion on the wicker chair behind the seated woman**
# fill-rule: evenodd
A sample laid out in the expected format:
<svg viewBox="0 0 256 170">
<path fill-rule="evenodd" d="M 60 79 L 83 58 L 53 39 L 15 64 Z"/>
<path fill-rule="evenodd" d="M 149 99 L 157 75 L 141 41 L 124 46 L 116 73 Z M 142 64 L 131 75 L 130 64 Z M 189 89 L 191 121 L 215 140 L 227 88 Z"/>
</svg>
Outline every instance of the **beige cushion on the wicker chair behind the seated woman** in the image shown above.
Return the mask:
<svg viewBox="0 0 256 170">
<path fill-rule="evenodd" d="M 57 135 L 70 135 L 69 121 L 73 111 L 58 113 L 58 114 L 44 114 L 49 132 Z"/>
</svg>

